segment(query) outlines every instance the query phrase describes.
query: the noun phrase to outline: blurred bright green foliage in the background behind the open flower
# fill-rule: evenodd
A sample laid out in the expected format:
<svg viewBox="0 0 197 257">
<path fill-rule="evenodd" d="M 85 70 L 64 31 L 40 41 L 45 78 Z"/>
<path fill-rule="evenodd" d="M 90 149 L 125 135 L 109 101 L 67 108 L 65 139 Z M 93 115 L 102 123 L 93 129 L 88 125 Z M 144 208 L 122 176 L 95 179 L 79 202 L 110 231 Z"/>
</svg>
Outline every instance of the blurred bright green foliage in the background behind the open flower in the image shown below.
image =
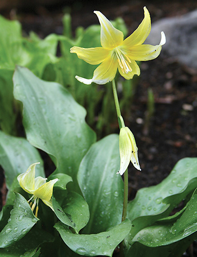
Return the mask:
<svg viewBox="0 0 197 257">
<path fill-rule="evenodd" d="M 76 54 L 70 53 L 73 46 L 100 46 L 100 25 L 91 25 L 86 29 L 79 26 L 73 36 L 68 13 L 63 16 L 62 23 L 62 35 L 52 33 L 45 39 L 40 39 L 34 32 L 23 36 L 23 28 L 18 21 L 9 21 L 0 16 L 0 125 L 4 132 L 20 134 L 20 124 L 16 125 L 20 106 L 12 95 L 15 65 L 27 67 L 41 79 L 58 82 L 67 88 L 76 101 L 86 108 L 86 120 L 97 131 L 99 138 L 116 131 L 118 124 L 111 83 L 84 85 L 77 81 L 76 75 L 92 78 L 97 66 L 89 65 Z M 113 25 L 124 36 L 128 34 L 120 17 L 113 21 Z M 120 105 L 127 113 L 134 95 L 136 79 L 124 81 L 117 73 L 116 80 L 121 95 Z"/>
</svg>

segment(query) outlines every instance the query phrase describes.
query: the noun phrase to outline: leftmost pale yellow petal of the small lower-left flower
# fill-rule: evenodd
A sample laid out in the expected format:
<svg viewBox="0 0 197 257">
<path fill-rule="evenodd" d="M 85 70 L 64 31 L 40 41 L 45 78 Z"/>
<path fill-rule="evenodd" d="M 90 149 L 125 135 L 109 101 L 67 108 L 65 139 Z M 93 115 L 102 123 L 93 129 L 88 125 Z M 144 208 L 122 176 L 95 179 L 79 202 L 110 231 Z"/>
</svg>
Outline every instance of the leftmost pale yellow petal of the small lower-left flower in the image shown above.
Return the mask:
<svg viewBox="0 0 197 257">
<path fill-rule="evenodd" d="M 19 185 L 27 193 L 31 194 L 30 190 L 34 190 L 35 166 L 39 163 L 40 162 L 31 164 L 25 173 L 22 173 L 19 176 L 17 176 Z"/>
</svg>

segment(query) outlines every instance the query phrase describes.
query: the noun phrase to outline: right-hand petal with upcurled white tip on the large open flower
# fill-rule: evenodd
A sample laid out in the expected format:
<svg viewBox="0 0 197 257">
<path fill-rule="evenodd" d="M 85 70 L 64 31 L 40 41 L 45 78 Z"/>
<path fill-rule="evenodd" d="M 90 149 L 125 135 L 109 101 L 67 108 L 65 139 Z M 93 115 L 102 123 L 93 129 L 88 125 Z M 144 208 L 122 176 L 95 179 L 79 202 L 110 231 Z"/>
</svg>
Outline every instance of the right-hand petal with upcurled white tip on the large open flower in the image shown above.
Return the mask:
<svg viewBox="0 0 197 257">
<path fill-rule="evenodd" d="M 166 43 L 166 36 L 164 32 L 161 32 L 162 38 L 159 45 L 138 45 L 132 46 L 126 52 L 127 56 L 135 61 L 149 61 L 158 57 L 162 46 Z"/>
</svg>

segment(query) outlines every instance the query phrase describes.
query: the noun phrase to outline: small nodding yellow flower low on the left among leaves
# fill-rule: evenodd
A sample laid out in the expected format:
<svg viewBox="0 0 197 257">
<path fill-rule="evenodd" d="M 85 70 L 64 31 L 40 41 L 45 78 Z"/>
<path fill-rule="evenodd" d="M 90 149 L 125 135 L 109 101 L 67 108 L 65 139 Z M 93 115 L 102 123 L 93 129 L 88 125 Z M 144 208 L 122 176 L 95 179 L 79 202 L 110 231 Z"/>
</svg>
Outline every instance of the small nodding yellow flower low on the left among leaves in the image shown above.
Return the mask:
<svg viewBox="0 0 197 257">
<path fill-rule="evenodd" d="M 25 173 L 22 173 L 19 176 L 17 176 L 17 180 L 19 181 L 19 184 L 22 187 L 22 189 L 25 190 L 27 193 L 32 194 L 32 197 L 28 200 L 33 201 L 31 210 L 33 211 L 35 205 L 37 205 L 35 216 L 38 215 L 39 198 L 45 203 L 45 205 L 49 206 L 53 210 L 51 201 L 52 190 L 54 184 L 58 181 L 58 178 L 52 179 L 49 182 L 46 182 L 47 178 L 35 178 L 35 166 L 39 163 L 40 162 L 31 164 Z"/>
</svg>

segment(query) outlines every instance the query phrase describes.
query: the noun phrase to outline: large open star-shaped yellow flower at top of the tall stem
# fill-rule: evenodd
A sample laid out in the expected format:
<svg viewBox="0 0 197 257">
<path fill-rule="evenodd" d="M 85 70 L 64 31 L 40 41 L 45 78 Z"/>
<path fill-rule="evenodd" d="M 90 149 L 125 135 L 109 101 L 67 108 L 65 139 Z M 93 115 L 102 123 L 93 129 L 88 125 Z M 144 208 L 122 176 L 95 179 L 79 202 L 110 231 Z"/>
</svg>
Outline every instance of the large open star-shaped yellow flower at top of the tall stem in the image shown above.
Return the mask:
<svg viewBox="0 0 197 257">
<path fill-rule="evenodd" d="M 159 45 L 142 45 L 151 30 L 151 19 L 149 11 L 144 7 L 145 17 L 139 27 L 125 40 L 123 33 L 114 28 L 111 22 L 99 11 L 94 11 L 101 25 L 101 46 L 95 48 L 81 48 L 74 46 L 71 53 L 89 64 L 100 64 L 94 71 L 92 79 L 76 76 L 76 79 L 84 84 L 105 84 L 115 78 L 117 68 L 120 75 L 125 79 L 132 79 L 136 74 L 139 76 L 140 69 L 136 61 L 148 61 L 155 59 L 162 45 L 166 43 L 164 32 Z"/>
</svg>

